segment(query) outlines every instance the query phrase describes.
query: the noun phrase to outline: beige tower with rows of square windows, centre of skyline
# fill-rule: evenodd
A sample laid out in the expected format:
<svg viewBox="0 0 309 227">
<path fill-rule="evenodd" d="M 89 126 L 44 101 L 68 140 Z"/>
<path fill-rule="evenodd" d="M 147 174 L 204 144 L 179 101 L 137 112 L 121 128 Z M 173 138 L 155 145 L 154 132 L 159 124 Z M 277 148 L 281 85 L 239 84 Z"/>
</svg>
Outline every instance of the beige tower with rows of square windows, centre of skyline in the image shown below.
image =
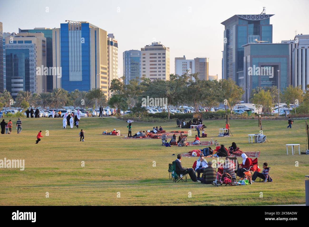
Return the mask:
<svg viewBox="0 0 309 227">
<path fill-rule="evenodd" d="M 142 75 L 150 80 L 170 79 L 170 48 L 160 42 L 153 42 L 141 48 Z"/>
</svg>

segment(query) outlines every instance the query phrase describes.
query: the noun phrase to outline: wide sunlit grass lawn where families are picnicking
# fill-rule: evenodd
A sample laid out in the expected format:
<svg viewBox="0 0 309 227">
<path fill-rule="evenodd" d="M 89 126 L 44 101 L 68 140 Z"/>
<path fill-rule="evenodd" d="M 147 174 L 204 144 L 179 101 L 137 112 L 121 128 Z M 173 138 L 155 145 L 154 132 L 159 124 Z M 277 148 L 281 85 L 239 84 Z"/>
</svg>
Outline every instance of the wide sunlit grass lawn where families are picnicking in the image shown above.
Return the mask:
<svg viewBox="0 0 309 227">
<path fill-rule="evenodd" d="M 13 126 L 16 120 L 12 119 Z M 248 143 L 247 135 L 259 132 L 258 120 L 230 120 L 234 137 L 217 137 L 225 120 L 205 120 L 208 137 L 202 141 L 214 137 L 226 147 L 235 141 L 243 151 L 260 151 L 260 168 L 264 162 L 271 166 L 272 183 L 236 187 L 194 183 L 189 177 L 188 183 L 173 183 L 168 178 L 168 163 L 193 147 L 163 147 L 161 139 L 126 140 L 121 139 L 123 136 L 102 135 L 104 130 L 113 128 L 126 134 L 128 123 L 121 120 L 82 118 L 79 129 L 62 129 L 62 118 L 22 121 L 22 134 L 18 135 L 15 127 L 11 135 L 0 134 L 0 159 L 25 160 L 23 171 L 0 169 L 0 205 L 305 204 L 304 176 L 309 174 L 309 155 L 298 155 L 297 151 L 292 156 L 289 148 L 287 156 L 285 146 L 299 143 L 301 150 L 305 149 L 304 120 L 295 120 L 292 129 L 286 128 L 287 120 L 262 120 L 269 141 L 263 144 Z M 132 135 L 159 125 L 133 123 Z M 176 121 L 161 126 L 166 131 L 177 130 Z M 84 142 L 79 141 L 80 129 L 86 132 Z M 35 144 L 39 130 L 44 137 Z M 45 130 L 49 130 L 49 136 L 45 136 Z M 195 132 L 188 140 L 193 140 Z M 182 164 L 192 167 L 196 159 L 184 157 Z M 82 161 L 85 167 L 81 166 Z M 45 197 L 46 192 L 49 198 Z"/>
</svg>

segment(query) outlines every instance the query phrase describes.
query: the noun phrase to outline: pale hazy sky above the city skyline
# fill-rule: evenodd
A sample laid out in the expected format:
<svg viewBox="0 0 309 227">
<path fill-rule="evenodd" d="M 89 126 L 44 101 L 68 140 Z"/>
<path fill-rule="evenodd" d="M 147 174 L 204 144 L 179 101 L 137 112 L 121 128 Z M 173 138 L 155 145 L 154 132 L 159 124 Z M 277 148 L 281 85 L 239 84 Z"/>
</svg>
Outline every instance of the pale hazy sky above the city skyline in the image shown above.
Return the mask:
<svg viewBox="0 0 309 227">
<path fill-rule="evenodd" d="M 125 50 L 140 50 L 160 41 L 170 48 L 171 73 L 175 71 L 175 57 L 209 57 L 209 74 L 221 78 L 224 26 L 220 23 L 235 14 L 260 14 L 263 6 L 266 14 L 275 14 L 270 18 L 274 43 L 294 39 L 295 30 L 309 34 L 308 0 L 1 0 L 0 21 L 3 32 L 60 27 L 65 20 L 88 21 L 114 33 L 120 76 Z"/>
</svg>

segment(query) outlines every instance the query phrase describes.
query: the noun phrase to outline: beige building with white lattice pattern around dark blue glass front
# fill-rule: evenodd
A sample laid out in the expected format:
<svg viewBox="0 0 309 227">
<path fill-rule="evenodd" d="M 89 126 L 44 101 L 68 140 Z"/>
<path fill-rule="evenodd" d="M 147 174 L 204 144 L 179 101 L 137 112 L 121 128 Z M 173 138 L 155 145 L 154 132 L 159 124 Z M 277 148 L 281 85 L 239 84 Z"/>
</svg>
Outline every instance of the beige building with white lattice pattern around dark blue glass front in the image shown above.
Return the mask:
<svg viewBox="0 0 309 227">
<path fill-rule="evenodd" d="M 46 38 L 43 33 L 17 33 L 6 36 L 6 90 L 16 97 L 18 91 L 46 92 L 46 75 L 36 67 L 46 65 Z"/>
</svg>

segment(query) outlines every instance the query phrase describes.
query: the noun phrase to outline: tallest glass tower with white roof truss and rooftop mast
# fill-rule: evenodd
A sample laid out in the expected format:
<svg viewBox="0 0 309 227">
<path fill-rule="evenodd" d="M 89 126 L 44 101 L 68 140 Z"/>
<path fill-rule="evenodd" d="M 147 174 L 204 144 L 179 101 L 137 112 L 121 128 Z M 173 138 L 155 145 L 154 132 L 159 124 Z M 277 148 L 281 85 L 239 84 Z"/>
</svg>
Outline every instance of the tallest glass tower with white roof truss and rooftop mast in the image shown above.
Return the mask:
<svg viewBox="0 0 309 227">
<path fill-rule="evenodd" d="M 222 78 L 232 78 L 237 85 L 243 86 L 243 45 L 256 42 L 273 42 L 273 16 L 265 11 L 257 15 L 234 15 L 223 21 L 224 50 Z"/>
</svg>

